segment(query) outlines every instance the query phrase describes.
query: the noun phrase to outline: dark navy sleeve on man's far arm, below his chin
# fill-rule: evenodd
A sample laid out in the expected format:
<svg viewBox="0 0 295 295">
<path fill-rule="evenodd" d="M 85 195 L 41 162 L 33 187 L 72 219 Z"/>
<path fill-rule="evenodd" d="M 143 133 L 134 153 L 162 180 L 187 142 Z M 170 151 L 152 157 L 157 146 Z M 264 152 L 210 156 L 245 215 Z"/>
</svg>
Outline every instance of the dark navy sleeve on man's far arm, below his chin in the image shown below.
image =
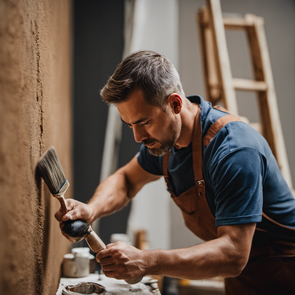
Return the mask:
<svg viewBox="0 0 295 295">
<path fill-rule="evenodd" d="M 145 171 L 155 175 L 163 175 L 163 157 L 151 155 L 145 145 L 140 147 L 137 161 Z"/>
</svg>

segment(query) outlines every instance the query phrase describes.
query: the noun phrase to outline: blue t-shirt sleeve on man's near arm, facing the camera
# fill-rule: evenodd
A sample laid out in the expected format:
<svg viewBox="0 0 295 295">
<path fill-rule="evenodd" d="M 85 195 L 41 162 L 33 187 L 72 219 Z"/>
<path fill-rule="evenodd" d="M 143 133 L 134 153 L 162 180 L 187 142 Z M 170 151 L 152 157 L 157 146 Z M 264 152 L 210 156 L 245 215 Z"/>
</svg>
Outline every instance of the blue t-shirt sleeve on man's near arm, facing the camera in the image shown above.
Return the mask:
<svg viewBox="0 0 295 295">
<path fill-rule="evenodd" d="M 216 227 L 261 222 L 262 155 L 251 148 L 232 151 L 210 169 L 215 192 Z"/>
</svg>

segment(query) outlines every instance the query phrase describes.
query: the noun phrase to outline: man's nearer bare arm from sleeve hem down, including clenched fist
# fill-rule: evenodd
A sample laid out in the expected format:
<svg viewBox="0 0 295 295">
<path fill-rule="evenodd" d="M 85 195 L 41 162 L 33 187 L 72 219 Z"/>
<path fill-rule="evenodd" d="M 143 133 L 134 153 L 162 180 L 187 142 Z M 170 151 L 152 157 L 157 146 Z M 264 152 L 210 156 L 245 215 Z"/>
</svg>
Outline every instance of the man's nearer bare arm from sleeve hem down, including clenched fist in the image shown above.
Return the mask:
<svg viewBox="0 0 295 295">
<path fill-rule="evenodd" d="M 255 226 L 256 223 L 220 226 L 217 239 L 184 249 L 138 250 L 117 242 L 107 245 L 96 257 L 106 276 L 115 278 L 125 279 L 126 273 L 128 278 L 142 275 L 187 279 L 235 277 L 247 264 Z"/>
</svg>

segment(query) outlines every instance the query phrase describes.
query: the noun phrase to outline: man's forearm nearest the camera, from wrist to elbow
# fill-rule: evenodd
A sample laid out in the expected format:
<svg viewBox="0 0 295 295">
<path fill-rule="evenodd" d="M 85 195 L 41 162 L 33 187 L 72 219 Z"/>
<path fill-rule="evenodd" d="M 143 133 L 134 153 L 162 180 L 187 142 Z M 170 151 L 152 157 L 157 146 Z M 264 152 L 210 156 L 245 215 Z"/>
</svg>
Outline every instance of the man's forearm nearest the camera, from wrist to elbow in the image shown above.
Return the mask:
<svg viewBox="0 0 295 295">
<path fill-rule="evenodd" d="M 248 259 L 235 249 L 228 237 L 184 249 L 146 250 L 144 257 L 147 275 L 195 280 L 238 276 Z"/>
</svg>

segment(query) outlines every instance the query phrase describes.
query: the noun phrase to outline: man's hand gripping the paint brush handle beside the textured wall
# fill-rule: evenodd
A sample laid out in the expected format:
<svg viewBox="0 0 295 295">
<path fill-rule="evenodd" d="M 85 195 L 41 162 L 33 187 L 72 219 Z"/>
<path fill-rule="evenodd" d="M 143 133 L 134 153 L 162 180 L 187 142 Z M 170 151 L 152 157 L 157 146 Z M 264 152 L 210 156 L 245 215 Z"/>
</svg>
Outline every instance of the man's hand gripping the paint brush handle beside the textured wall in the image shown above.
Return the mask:
<svg viewBox="0 0 295 295">
<path fill-rule="evenodd" d="M 93 209 L 91 206 L 84 204 L 82 202 L 76 201 L 74 199 L 66 199 L 66 205 L 68 207 L 68 213 L 63 215 L 61 207 L 55 213 L 54 217 L 59 221 L 59 227 L 61 233 L 69 239 L 68 235 L 63 232 L 64 223 L 66 220 L 76 220 L 82 219 L 88 221 L 90 224 L 93 222 L 91 219 L 93 215 Z"/>
</svg>

